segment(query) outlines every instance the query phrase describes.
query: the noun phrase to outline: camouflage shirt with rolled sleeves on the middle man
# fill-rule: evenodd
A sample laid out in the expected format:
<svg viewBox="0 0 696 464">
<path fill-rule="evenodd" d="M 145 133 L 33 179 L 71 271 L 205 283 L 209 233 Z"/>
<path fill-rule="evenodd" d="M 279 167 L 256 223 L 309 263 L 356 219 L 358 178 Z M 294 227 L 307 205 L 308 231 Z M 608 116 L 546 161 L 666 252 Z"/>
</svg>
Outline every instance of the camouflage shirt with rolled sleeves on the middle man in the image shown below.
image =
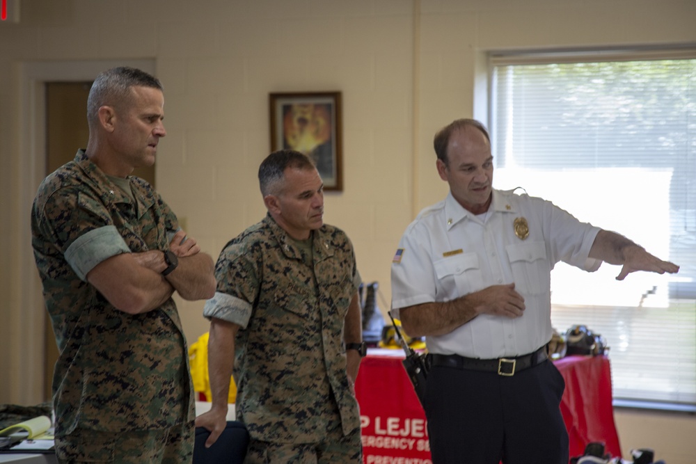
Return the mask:
<svg viewBox="0 0 696 464">
<path fill-rule="evenodd" d="M 230 241 L 216 264 L 217 291 L 204 314 L 242 327 L 235 410 L 252 440 L 316 443 L 327 430 L 360 428 L 343 341 L 360 285 L 353 247 L 342 230 L 324 225 L 313 231 L 312 253 L 309 266 L 267 215 Z"/>
</svg>

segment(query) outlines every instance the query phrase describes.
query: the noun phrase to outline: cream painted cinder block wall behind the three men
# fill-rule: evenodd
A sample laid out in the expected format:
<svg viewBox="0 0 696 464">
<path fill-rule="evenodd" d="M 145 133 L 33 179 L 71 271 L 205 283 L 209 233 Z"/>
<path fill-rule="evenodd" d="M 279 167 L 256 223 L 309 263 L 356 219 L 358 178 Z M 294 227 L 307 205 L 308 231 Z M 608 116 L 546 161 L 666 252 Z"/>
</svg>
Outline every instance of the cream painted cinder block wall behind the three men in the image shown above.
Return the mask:
<svg viewBox="0 0 696 464">
<path fill-rule="evenodd" d="M 326 194 L 325 219 L 347 231 L 363 279 L 377 280 L 388 301 L 400 235 L 447 191 L 434 131 L 486 118 L 486 51 L 696 42 L 693 0 L 16 4 L 19 22 L 0 23 L 2 403 L 42 401 L 43 308 L 29 241 L 44 175 L 42 81 L 85 79 L 102 62 L 152 64 L 168 131 L 157 187 L 214 257 L 264 214 L 255 176 L 269 152 L 268 94 L 340 90 L 344 190 Z M 189 342 L 207 330 L 202 307 L 180 302 Z M 688 438 L 672 437 L 696 435 L 694 417 L 619 412 L 617 423 L 624 456 L 650 446 L 667 463 L 693 462 Z"/>
</svg>

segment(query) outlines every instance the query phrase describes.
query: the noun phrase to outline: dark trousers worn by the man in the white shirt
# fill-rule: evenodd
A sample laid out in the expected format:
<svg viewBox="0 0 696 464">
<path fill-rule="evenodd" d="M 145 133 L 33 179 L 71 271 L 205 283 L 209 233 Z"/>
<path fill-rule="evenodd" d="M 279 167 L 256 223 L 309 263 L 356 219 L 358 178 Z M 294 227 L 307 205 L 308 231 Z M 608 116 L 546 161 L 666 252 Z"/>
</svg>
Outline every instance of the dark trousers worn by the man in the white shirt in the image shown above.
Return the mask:
<svg viewBox="0 0 696 464">
<path fill-rule="evenodd" d="M 434 464 L 568 464 L 565 382 L 551 361 L 516 373 L 432 367 L 425 415 Z"/>
</svg>

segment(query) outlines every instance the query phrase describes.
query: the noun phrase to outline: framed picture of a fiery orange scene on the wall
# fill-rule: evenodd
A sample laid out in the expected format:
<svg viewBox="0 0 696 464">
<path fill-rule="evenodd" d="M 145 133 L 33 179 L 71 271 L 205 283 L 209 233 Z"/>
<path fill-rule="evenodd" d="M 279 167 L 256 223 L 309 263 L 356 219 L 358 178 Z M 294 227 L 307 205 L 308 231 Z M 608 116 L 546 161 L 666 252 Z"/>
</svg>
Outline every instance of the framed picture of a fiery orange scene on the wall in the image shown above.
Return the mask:
<svg viewBox="0 0 696 464">
<path fill-rule="evenodd" d="M 342 191 L 341 93 L 271 93 L 271 151 L 302 152 L 317 165 L 324 190 Z"/>
</svg>

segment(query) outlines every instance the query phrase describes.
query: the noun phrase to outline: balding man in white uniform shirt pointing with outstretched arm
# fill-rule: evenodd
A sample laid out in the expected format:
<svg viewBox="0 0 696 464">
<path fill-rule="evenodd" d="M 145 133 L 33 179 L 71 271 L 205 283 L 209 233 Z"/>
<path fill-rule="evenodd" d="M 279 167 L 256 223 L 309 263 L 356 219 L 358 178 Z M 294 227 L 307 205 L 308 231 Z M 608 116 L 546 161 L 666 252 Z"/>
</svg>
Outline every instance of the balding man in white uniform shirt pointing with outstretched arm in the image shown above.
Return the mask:
<svg viewBox="0 0 696 464">
<path fill-rule="evenodd" d="M 392 307 L 426 337 L 424 408 L 435 464 L 567 464 L 559 404 L 564 381 L 551 339 L 551 269 L 601 262 L 676 273 L 619 234 L 581 223 L 541 198 L 492 188 L 480 122 L 455 120 L 434 138 L 445 200 L 420 212 L 392 264 Z"/>
</svg>

